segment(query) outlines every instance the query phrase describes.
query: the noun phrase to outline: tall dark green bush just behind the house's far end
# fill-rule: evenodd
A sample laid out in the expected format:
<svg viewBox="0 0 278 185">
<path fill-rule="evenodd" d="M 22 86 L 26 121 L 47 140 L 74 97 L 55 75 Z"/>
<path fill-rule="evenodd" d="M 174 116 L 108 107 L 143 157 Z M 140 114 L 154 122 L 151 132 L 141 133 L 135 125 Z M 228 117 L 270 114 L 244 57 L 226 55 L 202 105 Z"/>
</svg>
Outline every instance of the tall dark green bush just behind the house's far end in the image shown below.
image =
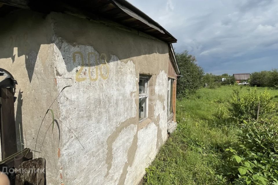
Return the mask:
<svg viewBox="0 0 278 185">
<path fill-rule="evenodd" d="M 204 71 L 197 65 L 195 57 L 188 54 L 188 51 L 177 53 L 176 58 L 182 74 L 177 81 L 177 97 L 188 97 L 203 85 Z"/>
</svg>

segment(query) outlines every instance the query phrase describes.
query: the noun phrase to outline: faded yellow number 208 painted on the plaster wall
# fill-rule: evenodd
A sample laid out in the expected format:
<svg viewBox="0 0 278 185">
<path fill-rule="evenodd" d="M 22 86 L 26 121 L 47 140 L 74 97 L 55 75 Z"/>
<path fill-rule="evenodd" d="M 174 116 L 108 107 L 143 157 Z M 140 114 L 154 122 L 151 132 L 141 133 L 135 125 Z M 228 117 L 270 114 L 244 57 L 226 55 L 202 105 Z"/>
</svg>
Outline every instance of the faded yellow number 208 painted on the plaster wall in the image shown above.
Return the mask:
<svg viewBox="0 0 278 185">
<path fill-rule="evenodd" d="M 76 76 L 75 76 L 75 79 L 77 82 L 82 82 L 84 80 L 86 80 L 87 78 L 86 77 L 79 77 L 81 74 L 82 74 L 82 71 L 84 69 L 84 56 L 83 56 L 83 53 L 81 53 L 80 51 L 75 51 L 74 53 L 72 53 L 72 58 L 73 58 L 73 63 L 76 62 L 76 55 L 80 55 L 80 58 L 81 58 L 81 67 L 80 69 L 76 72 Z M 95 52 L 89 52 L 87 54 L 88 56 L 88 66 L 89 66 L 89 69 L 88 69 L 88 72 L 89 72 L 89 79 L 91 81 L 97 81 L 98 80 L 98 56 Z M 91 74 L 91 57 L 94 56 L 95 57 L 95 69 L 96 69 L 96 77 L 92 77 L 92 74 Z M 102 60 L 104 62 L 102 62 Z M 107 79 L 108 76 L 109 76 L 109 66 L 107 65 L 107 56 L 105 55 L 105 53 L 101 53 L 100 54 L 100 76 L 102 79 Z M 106 75 L 103 75 L 103 67 L 106 68 L 106 71 L 107 71 L 107 74 Z"/>
</svg>

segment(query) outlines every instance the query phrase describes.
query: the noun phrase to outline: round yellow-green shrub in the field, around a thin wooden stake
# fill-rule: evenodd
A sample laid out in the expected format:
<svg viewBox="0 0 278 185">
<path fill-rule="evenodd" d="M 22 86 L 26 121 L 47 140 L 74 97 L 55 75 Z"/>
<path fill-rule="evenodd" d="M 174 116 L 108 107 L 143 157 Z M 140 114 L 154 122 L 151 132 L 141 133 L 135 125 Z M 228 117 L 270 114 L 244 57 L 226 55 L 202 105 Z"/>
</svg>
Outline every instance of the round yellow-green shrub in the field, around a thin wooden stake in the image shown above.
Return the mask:
<svg viewBox="0 0 278 185">
<path fill-rule="evenodd" d="M 247 87 L 247 91 L 243 94 L 238 89 L 233 89 L 233 95 L 230 99 L 231 116 L 239 120 L 257 119 L 258 105 L 260 102 L 260 115 L 267 115 L 276 110 L 277 103 L 272 101 L 268 90 L 258 94 L 256 88 L 251 90 Z"/>
</svg>

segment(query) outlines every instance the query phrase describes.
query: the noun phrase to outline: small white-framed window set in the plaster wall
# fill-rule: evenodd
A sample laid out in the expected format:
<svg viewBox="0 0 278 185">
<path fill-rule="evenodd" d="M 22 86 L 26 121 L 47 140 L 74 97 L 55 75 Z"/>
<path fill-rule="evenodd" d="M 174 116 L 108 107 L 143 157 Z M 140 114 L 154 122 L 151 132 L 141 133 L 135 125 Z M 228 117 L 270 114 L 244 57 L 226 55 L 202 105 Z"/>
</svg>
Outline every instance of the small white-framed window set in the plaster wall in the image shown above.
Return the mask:
<svg viewBox="0 0 278 185">
<path fill-rule="evenodd" d="M 148 77 L 139 77 L 139 121 L 148 117 Z"/>
</svg>

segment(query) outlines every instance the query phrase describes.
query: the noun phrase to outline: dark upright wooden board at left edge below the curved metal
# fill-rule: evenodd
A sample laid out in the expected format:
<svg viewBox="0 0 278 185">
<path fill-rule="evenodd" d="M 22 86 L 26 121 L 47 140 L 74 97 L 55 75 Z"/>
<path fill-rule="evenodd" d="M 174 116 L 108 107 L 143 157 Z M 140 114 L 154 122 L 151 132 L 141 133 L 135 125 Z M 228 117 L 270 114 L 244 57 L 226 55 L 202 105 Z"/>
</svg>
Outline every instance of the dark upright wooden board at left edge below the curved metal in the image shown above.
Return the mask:
<svg viewBox="0 0 278 185">
<path fill-rule="evenodd" d="M 1 148 L 2 159 L 17 152 L 17 137 L 14 118 L 14 94 L 12 88 L 1 88 Z"/>
</svg>

